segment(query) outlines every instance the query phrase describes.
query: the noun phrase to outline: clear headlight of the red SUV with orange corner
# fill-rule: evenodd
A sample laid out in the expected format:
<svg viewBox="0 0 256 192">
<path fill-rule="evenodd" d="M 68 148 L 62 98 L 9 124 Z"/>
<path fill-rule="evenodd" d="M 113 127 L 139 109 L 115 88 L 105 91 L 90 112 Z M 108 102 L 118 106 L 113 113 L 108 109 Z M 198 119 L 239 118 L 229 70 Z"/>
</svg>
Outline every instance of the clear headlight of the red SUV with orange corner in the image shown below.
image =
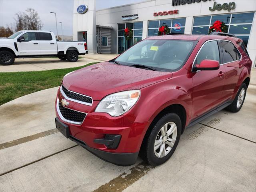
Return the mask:
<svg viewBox="0 0 256 192">
<path fill-rule="evenodd" d="M 95 112 L 105 112 L 111 116 L 120 116 L 128 111 L 140 97 L 140 90 L 114 93 L 103 98 Z"/>
</svg>

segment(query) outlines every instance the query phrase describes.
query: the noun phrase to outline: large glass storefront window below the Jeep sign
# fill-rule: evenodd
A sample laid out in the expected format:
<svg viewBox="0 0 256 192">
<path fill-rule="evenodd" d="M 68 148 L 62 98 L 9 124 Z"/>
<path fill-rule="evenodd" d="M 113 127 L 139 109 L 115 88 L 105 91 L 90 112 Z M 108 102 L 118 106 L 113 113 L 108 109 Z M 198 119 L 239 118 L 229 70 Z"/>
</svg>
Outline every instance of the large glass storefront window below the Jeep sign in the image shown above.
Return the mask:
<svg viewBox="0 0 256 192">
<path fill-rule="evenodd" d="M 241 38 L 247 46 L 253 17 L 254 12 L 194 17 L 192 34 L 208 34 L 210 26 L 216 20 L 220 20 L 228 26 L 228 33 Z"/>
</svg>

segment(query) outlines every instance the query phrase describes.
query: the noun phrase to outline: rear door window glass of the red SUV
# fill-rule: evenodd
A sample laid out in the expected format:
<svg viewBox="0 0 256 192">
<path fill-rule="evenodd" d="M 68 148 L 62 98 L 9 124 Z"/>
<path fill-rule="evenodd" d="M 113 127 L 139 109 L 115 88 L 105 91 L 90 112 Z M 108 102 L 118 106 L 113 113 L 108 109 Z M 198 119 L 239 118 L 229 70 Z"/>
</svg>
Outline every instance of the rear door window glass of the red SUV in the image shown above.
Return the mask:
<svg viewBox="0 0 256 192">
<path fill-rule="evenodd" d="M 228 41 L 220 41 L 220 47 L 223 52 L 223 63 L 228 63 L 240 59 L 240 54 L 232 43 Z"/>
</svg>

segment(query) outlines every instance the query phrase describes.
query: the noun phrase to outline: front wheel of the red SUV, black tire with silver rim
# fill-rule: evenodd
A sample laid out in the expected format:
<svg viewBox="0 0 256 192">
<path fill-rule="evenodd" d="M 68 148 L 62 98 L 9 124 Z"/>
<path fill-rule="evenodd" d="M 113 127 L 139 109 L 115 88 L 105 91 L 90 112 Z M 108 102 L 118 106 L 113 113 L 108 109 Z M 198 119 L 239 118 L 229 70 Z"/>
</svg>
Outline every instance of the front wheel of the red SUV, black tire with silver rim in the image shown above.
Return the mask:
<svg viewBox="0 0 256 192">
<path fill-rule="evenodd" d="M 170 136 L 163 136 L 164 126 L 167 125 L 167 133 L 174 131 Z M 175 129 L 176 125 L 176 129 Z M 174 153 L 181 135 L 181 120 L 175 113 L 168 113 L 162 116 L 155 124 L 151 126 L 152 130 L 149 130 L 143 140 L 140 150 L 140 157 L 152 166 L 158 166 L 165 163 Z M 166 131 L 164 132 L 166 133 Z M 169 134 L 168 133 L 168 134 Z M 174 139 L 176 137 L 176 139 Z M 161 139 L 162 138 L 162 139 Z M 167 139 L 167 140 L 166 140 Z M 174 140 L 173 140 L 174 139 Z M 172 141 L 171 141 L 172 140 Z M 174 141 L 174 142 L 173 142 Z M 164 144 L 163 144 L 164 142 Z M 169 146 L 172 146 L 172 148 Z M 174 143 L 174 144 L 173 144 Z M 156 146 L 156 150 L 154 149 Z M 163 150 L 165 148 L 165 150 Z M 162 149 L 162 150 L 161 150 Z M 161 153 L 164 152 L 164 153 Z"/>
</svg>

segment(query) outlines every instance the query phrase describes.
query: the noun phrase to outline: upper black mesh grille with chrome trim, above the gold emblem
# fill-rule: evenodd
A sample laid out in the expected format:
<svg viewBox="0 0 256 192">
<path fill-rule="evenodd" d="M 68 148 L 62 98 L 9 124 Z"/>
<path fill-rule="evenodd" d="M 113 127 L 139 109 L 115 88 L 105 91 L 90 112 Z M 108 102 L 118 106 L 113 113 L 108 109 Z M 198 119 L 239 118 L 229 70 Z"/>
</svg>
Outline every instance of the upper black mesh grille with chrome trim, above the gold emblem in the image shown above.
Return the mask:
<svg viewBox="0 0 256 192">
<path fill-rule="evenodd" d="M 64 92 L 64 94 L 66 95 L 67 99 L 71 98 L 71 99 L 74 100 L 74 102 L 80 101 L 78 103 L 82 103 L 82 104 L 86 104 L 86 105 L 92 105 L 92 98 L 91 97 L 69 91 L 63 85 L 61 86 L 61 89 Z M 63 92 L 62 92 L 62 94 L 63 94 Z M 64 97 L 65 97 L 65 95 L 64 95 Z"/>
</svg>

